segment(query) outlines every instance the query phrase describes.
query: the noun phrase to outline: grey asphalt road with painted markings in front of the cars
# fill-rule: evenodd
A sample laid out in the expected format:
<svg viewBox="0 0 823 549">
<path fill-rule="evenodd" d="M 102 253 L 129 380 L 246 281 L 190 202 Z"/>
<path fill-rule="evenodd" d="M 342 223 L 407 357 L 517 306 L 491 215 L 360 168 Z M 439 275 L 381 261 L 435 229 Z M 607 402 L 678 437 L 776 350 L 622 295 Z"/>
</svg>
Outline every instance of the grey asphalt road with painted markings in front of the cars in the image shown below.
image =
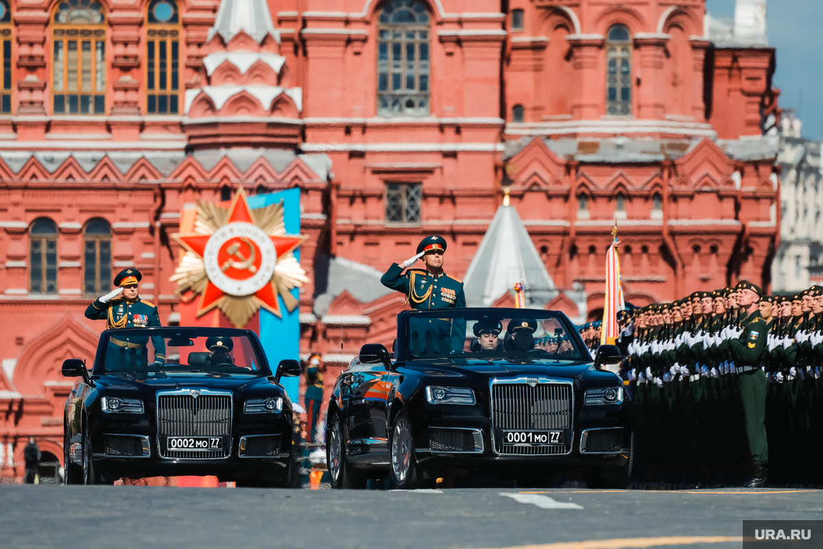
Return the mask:
<svg viewBox="0 0 823 549">
<path fill-rule="evenodd" d="M 727 549 L 743 519 L 823 519 L 823 491 L 0 485 L 3 548 Z"/>
</svg>

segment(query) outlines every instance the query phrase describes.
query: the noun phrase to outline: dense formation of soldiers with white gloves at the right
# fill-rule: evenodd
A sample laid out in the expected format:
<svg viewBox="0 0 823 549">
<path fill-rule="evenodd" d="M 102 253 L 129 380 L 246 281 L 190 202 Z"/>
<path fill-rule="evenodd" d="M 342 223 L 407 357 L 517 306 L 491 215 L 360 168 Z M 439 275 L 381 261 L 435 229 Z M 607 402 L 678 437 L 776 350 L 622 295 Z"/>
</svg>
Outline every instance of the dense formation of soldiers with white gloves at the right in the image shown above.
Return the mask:
<svg viewBox="0 0 823 549">
<path fill-rule="evenodd" d="M 635 440 L 650 482 L 823 480 L 823 288 L 762 295 L 742 281 L 635 309 L 627 346 Z"/>
</svg>

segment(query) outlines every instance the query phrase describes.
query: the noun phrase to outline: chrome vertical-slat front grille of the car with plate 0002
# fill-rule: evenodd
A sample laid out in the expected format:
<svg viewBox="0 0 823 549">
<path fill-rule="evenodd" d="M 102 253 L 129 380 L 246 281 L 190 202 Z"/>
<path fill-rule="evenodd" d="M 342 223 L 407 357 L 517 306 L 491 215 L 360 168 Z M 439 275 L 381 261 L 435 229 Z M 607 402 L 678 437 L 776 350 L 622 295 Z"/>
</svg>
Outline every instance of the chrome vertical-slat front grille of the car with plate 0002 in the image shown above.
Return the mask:
<svg viewBox="0 0 823 549">
<path fill-rule="evenodd" d="M 164 458 L 226 458 L 231 453 L 231 395 L 160 394 L 157 397 L 157 431 Z M 222 449 L 168 449 L 169 436 L 219 436 Z"/>
</svg>

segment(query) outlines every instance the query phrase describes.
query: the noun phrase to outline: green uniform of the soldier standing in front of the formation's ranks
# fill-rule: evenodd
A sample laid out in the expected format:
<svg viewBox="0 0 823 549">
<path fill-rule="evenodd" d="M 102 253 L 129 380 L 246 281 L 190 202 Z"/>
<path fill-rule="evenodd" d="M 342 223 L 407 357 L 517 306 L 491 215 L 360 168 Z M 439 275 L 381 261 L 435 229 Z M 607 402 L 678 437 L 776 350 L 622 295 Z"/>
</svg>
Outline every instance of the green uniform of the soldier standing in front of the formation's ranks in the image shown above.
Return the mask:
<svg viewBox="0 0 823 549">
<path fill-rule="evenodd" d="M 746 283 L 745 289 L 762 292 L 760 288 Z M 743 333 L 739 339 L 732 339 L 729 348 L 734 356 L 737 373 L 740 375 L 740 393 L 743 412 L 746 416 L 746 435 L 749 450 L 756 467 L 764 468 L 769 461 L 769 446 L 766 442 L 765 403 L 766 375 L 760 366 L 764 361 L 768 328 L 766 321 L 755 311 L 746 316 L 740 324 Z"/>
</svg>

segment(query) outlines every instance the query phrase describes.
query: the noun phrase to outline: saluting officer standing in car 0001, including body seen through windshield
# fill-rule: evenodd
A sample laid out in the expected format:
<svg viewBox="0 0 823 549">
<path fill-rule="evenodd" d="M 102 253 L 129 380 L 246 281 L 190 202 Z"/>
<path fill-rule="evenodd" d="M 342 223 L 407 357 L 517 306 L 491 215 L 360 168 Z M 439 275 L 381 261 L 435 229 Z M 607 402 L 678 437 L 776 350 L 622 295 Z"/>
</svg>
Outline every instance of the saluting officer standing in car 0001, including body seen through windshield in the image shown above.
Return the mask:
<svg viewBox="0 0 823 549">
<path fill-rule="evenodd" d="M 443 272 L 446 240 L 439 235 L 426 236 L 417 244 L 417 255 L 402 263 L 392 263 L 380 278 L 387 288 L 402 291 L 412 309 L 433 310 L 464 308 L 466 295 L 463 281 Z M 425 269 L 404 268 L 423 260 Z M 465 319 L 413 319 L 412 354 L 440 356 L 463 351 L 466 342 Z"/>
</svg>

